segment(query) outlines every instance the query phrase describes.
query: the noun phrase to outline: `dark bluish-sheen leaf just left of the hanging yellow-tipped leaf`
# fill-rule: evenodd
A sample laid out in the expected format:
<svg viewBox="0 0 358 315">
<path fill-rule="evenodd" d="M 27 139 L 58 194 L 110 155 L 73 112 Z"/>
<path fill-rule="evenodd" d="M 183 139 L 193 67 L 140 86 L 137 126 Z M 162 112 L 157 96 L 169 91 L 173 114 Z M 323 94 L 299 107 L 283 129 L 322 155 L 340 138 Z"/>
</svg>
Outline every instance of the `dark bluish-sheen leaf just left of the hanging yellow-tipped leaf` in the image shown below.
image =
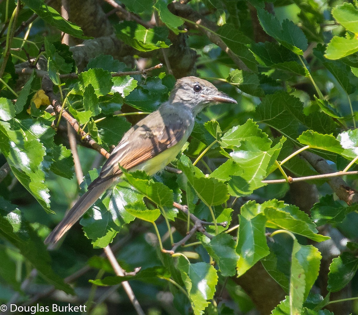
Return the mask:
<svg viewBox="0 0 358 315">
<path fill-rule="evenodd" d="M 236 243 L 232 236 L 221 233 L 212 239 L 200 234 L 202 242 L 209 255 L 213 257 L 219 266 L 222 276 L 234 276 L 236 273 L 236 263 L 239 258 L 235 251 Z"/>
</svg>

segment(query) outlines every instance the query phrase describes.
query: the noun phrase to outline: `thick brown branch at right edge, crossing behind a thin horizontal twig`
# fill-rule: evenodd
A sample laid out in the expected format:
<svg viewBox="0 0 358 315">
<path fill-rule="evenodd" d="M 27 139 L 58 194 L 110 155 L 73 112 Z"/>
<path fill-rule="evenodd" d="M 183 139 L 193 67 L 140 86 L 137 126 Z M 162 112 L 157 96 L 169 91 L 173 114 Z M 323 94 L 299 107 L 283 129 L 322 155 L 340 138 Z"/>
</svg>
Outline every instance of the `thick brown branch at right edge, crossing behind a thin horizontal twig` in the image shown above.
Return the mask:
<svg viewBox="0 0 358 315">
<path fill-rule="evenodd" d="M 332 173 L 332 169 L 329 164 L 320 156 L 308 152 L 303 151 L 300 153 L 309 164 L 313 166 L 313 168 L 321 174 L 329 174 Z M 338 172 L 343 173 L 343 172 Z M 350 174 L 352 172 L 345 172 L 344 174 Z M 357 173 L 355 173 L 357 174 Z M 358 193 L 353 188 L 350 188 L 348 184 L 340 177 L 336 176 L 327 181 L 328 185 L 331 186 L 332 190 L 337 194 L 340 200 L 343 200 L 348 205 L 351 205 L 355 202 L 358 202 Z"/>
</svg>

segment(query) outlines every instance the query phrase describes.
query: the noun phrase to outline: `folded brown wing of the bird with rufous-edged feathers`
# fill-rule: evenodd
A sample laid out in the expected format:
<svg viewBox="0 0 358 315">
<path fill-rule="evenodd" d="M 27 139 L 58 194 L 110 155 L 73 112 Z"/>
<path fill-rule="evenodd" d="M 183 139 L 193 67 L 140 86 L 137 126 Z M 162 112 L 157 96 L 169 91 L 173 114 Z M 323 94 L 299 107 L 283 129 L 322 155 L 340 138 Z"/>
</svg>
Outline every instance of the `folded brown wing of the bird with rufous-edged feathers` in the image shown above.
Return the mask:
<svg viewBox="0 0 358 315">
<path fill-rule="evenodd" d="M 133 126 L 112 151 L 93 184 L 120 175 L 122 170 L 119 165 L 130 170 L 182 140 L 188 129 L 184 125 L 186 121 L 175 113 L 166 116 L 166 121 L 163 121 L 160 112 L 156 111 Z"/>
</svg>

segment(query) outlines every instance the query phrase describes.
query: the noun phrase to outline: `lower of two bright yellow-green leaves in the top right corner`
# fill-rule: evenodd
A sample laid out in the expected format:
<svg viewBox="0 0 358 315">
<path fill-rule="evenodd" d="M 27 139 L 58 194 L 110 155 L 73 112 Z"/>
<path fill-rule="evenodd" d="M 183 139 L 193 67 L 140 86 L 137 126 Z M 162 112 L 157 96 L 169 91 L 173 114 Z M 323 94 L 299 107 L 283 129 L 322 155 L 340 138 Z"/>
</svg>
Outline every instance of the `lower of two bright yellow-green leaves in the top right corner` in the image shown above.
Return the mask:
<svg viewBox="0 0 358 315">
<path fill-rule="evenodd" d="M 327 45 L 324 57 L 327 59 L 339 59 L 358 52 L 358 40 L 333 36 Z"/>
</svg>

